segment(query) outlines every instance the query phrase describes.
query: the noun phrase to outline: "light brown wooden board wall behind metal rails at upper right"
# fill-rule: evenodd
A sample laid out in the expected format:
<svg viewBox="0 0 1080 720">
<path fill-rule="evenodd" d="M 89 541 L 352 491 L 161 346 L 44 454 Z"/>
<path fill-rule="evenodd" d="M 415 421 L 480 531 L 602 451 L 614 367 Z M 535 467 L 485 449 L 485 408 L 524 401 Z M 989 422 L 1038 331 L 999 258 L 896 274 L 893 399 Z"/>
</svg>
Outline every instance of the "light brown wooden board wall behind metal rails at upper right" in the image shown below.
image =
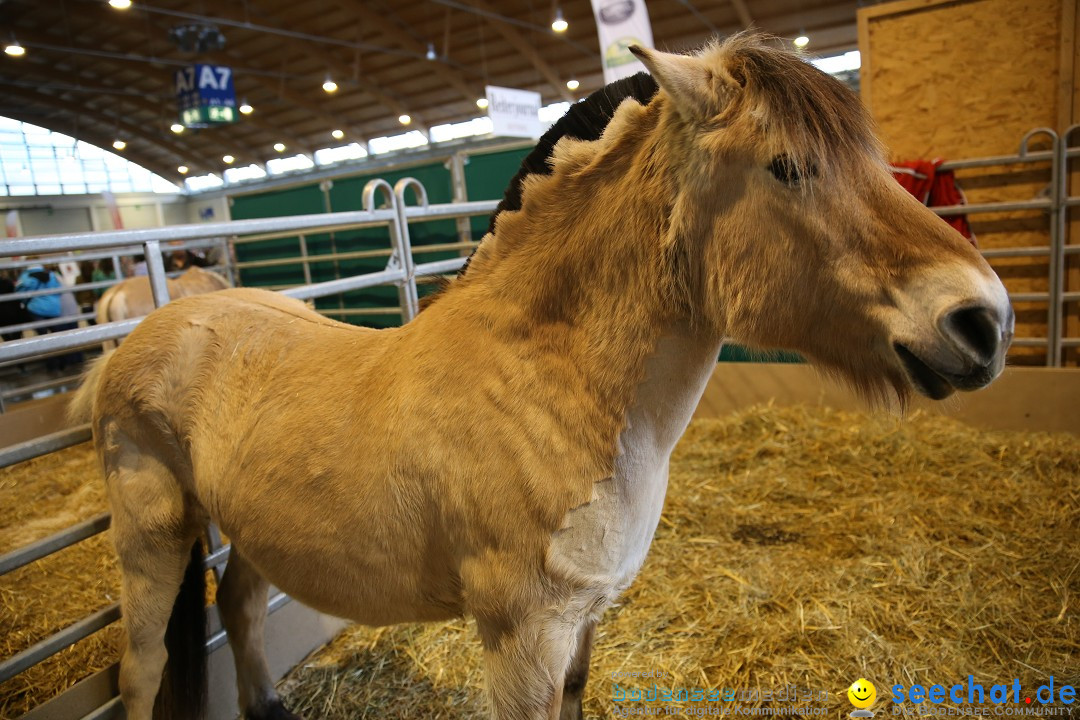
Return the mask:
<svg viewBox="0 0 1080 720">
<path fill-rule="evenodd" d="M 892 159 L 1014 154 L 1029 130 L 1056 127 L 1063 2 L 1076 0 L 903 0 L 860 10 L 863 99 Z M 1030 147 L 1049 148 L 1042 138 Z M 961 171 L 957 177 L 971 203 L 1029 200 L 1050 181 L 1049 164 Z M 1050 242 L 1042 213 L 970 220 L 984 248 Z M 1010 291 L 1048 290 L 1045 258 L 993 264 Z M 1017 302 L 1015 309 L 1018 337 L 1045 337 L 1045 303 Z M 1012 362 L 1043 364 L 1045 354 L 1016 348 Z"/>
</svg>

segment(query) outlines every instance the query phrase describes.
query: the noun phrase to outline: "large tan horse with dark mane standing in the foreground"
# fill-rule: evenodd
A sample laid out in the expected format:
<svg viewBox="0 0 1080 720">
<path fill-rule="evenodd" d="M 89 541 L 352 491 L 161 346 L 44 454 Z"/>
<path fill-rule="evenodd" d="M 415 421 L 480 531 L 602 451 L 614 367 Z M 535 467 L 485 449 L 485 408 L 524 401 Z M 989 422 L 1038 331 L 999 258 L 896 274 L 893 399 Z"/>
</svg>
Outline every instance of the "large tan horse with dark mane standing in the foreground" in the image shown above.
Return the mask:
<svg viewBox="0 0 1080 720">
<path fill-rule="evenodd" d="M 580 718 L 726 340 L 890 407 L 1001 372 L 1004 287 L 892 179 L 845 85 L 755 35 L 633 52 L 651 78 L 571 107 L 409 323 L 224 290 L 90 370 L 71 410 L 112 507 L 129 718 L 156 696 L 201 717 L 210 521 L 246 718 L 297 717 L 267 669 L 269 583 L 368 625 L 471 615 L 496 720 Z"/>
</svg>

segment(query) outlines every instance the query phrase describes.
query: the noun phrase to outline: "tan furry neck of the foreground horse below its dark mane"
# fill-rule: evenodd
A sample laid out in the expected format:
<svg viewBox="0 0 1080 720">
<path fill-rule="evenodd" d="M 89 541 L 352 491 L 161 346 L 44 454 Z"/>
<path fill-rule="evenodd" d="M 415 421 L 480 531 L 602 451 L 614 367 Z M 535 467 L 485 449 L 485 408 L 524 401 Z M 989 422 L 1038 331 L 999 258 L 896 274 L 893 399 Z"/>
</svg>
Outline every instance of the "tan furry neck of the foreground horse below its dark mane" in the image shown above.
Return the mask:
<svg viewBox="0 0 1080 720">
<path fill-rule="evenodd" d="M 719 345 L 673 287 L 669 131 L 658 108 L 624 104 L 600 140 L 561 142 L 552 175 L 530 178 L 523 209 L 499 217 L 459 287 L 427 311 L 446 302 L 543 363 L 541 392 L 584 415 L 605 464 L 632 410 L 681 434 Z"/>
</svg>

